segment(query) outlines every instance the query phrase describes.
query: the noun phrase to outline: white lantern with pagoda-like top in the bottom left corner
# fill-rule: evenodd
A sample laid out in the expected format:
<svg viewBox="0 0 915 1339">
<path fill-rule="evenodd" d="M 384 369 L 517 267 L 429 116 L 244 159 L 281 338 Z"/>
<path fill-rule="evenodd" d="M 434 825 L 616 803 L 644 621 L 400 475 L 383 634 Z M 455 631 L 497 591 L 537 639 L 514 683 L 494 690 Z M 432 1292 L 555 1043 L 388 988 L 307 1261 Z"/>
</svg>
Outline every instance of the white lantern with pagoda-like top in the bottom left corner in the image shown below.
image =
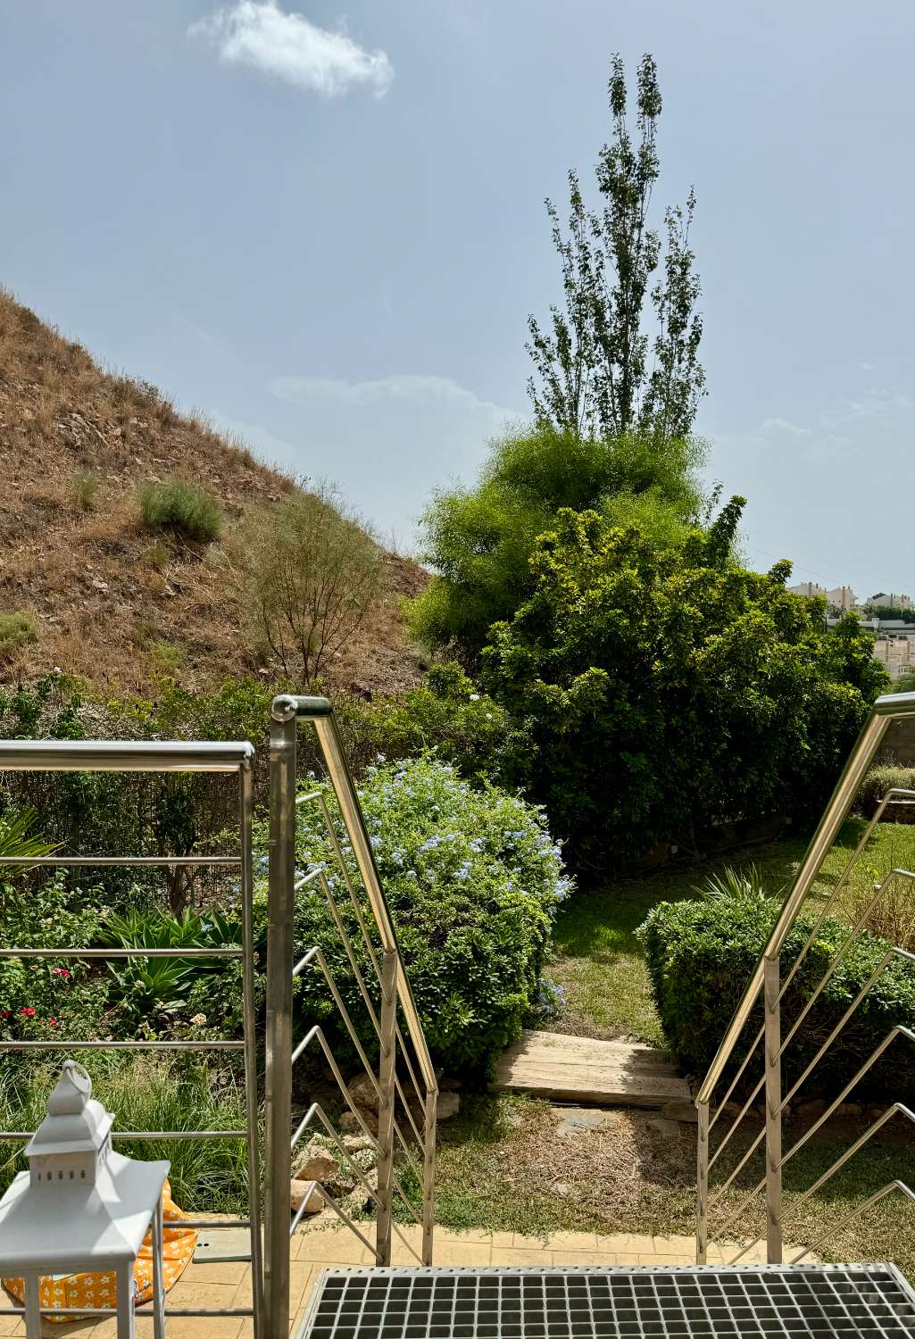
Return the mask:
<svg viewBox="0 0 915 1339">
<path fill-rule="evenodd" d="M 29 1170 L 0 1200 L 0 1273 L 25 1281 L 27 1339 L 42 1334 L 39 1280 L 83 1272 L 110 1276 L 118 1339 L 133 1339 L 134 1264 L 151 1227 L 154 1335 L 162 1339 L 162 1188 L 170 1164 L 115 1153 L 114 1117 L 91 1094 L 82 1065 L 66 1060 L 25 1149 Z"/>
</svg>

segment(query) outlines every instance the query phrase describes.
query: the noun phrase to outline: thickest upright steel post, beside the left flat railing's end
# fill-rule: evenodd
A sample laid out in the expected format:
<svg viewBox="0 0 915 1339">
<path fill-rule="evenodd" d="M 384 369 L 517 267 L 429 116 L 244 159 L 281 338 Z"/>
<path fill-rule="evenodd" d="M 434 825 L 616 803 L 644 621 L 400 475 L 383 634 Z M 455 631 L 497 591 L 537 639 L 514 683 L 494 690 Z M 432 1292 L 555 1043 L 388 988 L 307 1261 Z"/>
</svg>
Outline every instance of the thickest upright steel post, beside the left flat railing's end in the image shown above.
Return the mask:
<svg viewBox="0 0 915 1339">
<path fill-rule="evenodd" d="M 292 915 L 296 868 L 296 707 L 271 710 L 269 912 L 267 929 L 267 1217 L 264 1293 L 268 1339 L 289 1334 L 292 1138 Z"/>
</svg>

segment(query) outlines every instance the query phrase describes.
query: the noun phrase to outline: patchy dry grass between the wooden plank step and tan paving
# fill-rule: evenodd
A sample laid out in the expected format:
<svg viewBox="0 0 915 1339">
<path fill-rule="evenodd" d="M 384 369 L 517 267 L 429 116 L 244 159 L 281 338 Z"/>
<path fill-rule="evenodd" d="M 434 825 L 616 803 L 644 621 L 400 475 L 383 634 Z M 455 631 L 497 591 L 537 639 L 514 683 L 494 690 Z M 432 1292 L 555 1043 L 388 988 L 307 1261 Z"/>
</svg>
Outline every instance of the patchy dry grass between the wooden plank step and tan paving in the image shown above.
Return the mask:
<svg viewBox="0 0 915 1339">
<path fill-rule="evenodd" d="M 608 1111 L 600 1130 L 559 1133 L 561 1109 L 509 1094 L 465 1098 L 439 1126 L 435 1216 L 453 1231 L 634 1232 L 691 1236 L 695 1231 L 695 1126 L 650 1111 Z M 820 1193 L 804 1192 L 848 1149 L 864 1122 L 829 1122 L 785 1169 L 785 1240 L 808 1245 L 828 1235 L 833 1260 L 892 1260 L 915 1276 L 915 1205 L 891 1196 L 843 1228 L 869 1194 L 899 1177 L 915 1182 L 915 1141 L 900 1125 L 865 1146 Z M 789 1148 L 802 1125 L 785 1125 Z M 735 1135 L 711 1178 L 723 1184 L 756 1130 Z M 715 1227 L 741 1209 L 762 1177 L 762 1152 L 750 1157 L 711 1216 Z M 725 1240 L 765 1233 L 765 1198 L 741 1213 Z"/>
</svg>

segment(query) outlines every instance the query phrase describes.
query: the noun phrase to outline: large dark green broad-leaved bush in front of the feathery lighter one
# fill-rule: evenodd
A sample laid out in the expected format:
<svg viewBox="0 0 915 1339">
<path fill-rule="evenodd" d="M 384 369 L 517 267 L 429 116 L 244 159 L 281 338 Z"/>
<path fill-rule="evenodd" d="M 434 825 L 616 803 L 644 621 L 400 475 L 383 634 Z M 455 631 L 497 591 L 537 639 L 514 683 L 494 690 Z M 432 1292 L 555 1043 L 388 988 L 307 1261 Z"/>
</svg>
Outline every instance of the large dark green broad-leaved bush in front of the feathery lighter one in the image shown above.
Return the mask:
<svg viewBox="0 0 915 1339">
<path fill-rule="evenodd" d="M 824 632 L 786 590 L 790 564 L 735 565 L 741 507 L 679 549 L 561 511 L 535 593 L 490 629 L 481 682 L 516 723 L 502 778 L 581 865 L 817 813 L 886 682 L 853 616 Z"/>
</svg>

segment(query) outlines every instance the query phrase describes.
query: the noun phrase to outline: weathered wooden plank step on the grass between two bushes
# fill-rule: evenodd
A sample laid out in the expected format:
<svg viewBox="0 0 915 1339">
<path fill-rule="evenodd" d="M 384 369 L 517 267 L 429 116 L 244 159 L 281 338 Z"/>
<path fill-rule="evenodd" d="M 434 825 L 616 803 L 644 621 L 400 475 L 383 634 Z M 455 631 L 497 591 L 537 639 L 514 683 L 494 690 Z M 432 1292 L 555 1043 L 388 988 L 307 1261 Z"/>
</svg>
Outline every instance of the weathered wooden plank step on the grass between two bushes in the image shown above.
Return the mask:
<svg viewBox="0 0 915 1339">
<path fill-rule="evenodd" d="M 561 1032 L 524 1032 L 500 1058 L 492 1089 L 589 1106 L 690 1106 L 689 1085 L 663 1052 Z"/>
</svg>

